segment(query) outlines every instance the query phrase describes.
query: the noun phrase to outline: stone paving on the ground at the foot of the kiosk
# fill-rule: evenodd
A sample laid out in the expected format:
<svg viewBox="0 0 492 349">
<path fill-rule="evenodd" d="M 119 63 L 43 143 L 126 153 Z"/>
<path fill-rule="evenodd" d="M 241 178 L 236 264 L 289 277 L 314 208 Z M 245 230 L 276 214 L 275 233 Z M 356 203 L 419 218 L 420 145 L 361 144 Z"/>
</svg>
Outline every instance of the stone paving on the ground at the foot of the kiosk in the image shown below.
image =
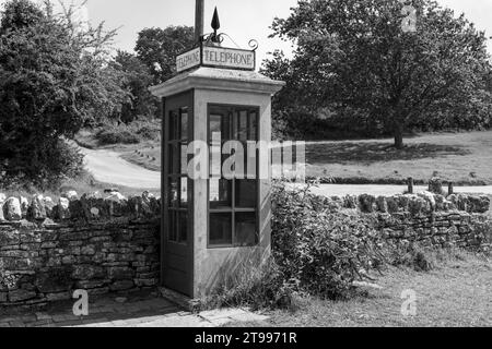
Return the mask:
<svg viewBox="0 0 492 349">
<path fill-rule="evenodd" d="M 114 297 L 98 299 L 90 303 L 90 315 L 83 317 L 73 315 L 72 305 L 66 302 L 46 311 L 10 315 L 0 312 L 0 327 L 219 327 L 268 320 L 242 309 L 192 314 L 157 297 L 133 298 L 124 303 Z"/>
</svg>

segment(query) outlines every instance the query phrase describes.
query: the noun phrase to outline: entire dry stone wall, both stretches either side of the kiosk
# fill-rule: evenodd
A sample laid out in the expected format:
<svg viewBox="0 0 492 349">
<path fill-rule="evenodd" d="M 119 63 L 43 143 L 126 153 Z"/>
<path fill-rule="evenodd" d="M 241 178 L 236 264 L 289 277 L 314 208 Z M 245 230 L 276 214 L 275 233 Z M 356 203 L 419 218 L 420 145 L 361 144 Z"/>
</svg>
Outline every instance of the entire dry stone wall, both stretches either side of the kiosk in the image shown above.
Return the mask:
<svg viewBox="0 0 492 349">
<path fill-rule="evenodd" d="M 324 206 L 375 216 L 388 242 L 490 250 L 487 196 L 431 193 L 324 198 Z M 0 306 L 155 287 L 160 270 L 159 200 L 144 193 L 67 193 L 56 203 L 0 194 Z"/>
</svg>

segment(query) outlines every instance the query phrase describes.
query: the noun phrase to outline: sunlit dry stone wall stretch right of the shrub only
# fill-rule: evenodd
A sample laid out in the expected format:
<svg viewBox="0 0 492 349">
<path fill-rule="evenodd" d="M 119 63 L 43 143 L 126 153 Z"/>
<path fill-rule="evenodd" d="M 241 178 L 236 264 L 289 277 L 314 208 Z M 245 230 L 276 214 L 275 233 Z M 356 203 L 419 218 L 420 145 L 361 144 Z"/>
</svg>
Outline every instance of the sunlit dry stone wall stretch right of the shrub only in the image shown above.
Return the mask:
<svg viewBox="0 0 492 349">
<path fill-rule="evenodd" d="M 384 239 L 400 248 L 465 248 L 492 251 L 490 198 L 480 195 L 443 195 L 423 192 L 414 195 L 344 196 L 325 200 L 331 210 L 356 209 L 376 217 Z"/>
</svg>

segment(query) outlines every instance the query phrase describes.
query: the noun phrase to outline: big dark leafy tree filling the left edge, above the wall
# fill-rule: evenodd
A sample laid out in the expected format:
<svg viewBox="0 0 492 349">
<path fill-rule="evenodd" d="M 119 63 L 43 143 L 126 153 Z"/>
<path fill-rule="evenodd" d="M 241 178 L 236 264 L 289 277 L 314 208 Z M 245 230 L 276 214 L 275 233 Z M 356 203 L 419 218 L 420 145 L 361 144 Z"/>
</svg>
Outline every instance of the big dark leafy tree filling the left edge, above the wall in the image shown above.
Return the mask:
<svg viewBox="0 0 492 349">
<path fill-rule="evenodd" d="M 28 0 L 7 3 L 0 28 L 3 184 L 20 179 L 45 188 L 80 169 L 81 156 L 65 140 L 127 100 L 120 74 L 107 63 L 113 36 L 102 25 L 82 29 L 55 15 L 49 2 L 44 9 Z"/>
</svg>

